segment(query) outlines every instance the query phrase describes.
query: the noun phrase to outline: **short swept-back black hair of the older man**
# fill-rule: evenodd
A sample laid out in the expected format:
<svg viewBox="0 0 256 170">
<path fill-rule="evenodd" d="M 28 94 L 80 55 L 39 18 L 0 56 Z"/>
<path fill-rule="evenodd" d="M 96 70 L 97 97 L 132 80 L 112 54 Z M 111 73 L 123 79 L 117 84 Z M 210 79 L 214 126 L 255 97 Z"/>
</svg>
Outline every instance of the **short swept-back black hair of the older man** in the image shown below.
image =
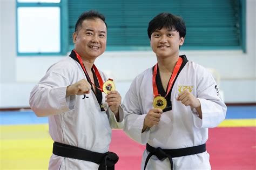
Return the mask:
<svg viewBox="0 0 256 170">
<path fill-rule="evenodd" d="M 107 28 L 107 24 L 105 22 L 105 17 L 102 13 L 99 13 L 98 11 L 95 11 L 95 10 L 90 10 L 90 11 L 87 11 L 87 12 L 83 12 L 78 20 L 77 20 L 77 23 L 76 23 L 76 26 L 75 26 L 75 32 L 78 31 L 78 27 L 79 26 L 82 26 L 82 23 L 85 19 L 102 19 L 102 21 L 105 23 L 106 25 L 106 28 Z"/>
</svg>

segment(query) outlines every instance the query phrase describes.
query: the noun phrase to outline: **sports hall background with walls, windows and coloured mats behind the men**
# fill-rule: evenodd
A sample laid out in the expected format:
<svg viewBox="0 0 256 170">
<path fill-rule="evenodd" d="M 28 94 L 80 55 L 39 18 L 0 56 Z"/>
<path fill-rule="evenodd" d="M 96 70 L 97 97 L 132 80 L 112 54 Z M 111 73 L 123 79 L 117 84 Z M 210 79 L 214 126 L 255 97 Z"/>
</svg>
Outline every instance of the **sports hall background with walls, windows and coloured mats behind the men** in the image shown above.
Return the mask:
<svg viewBox="0 0 256 170">
<path fill-rule="evenodd" d="M 0 0 L 0 169 L 48 169 L 53 141 L 48 118 L 36 117 L 30 91 L 46 70 L 73 49 L 80 13 L 106 17 L 107 47 L 96 66 L 122 96 L 131 81 L 156 64 L 147 24 L 160 12 L 184 18 L 180 55 L 208 69 L 227 105 L 225 120 L 209 128 L 212 169 L 256 169 L 255 0 Z M 113 130 L 116 169 L 140 169 L 144 145 Z"/>
</svg>

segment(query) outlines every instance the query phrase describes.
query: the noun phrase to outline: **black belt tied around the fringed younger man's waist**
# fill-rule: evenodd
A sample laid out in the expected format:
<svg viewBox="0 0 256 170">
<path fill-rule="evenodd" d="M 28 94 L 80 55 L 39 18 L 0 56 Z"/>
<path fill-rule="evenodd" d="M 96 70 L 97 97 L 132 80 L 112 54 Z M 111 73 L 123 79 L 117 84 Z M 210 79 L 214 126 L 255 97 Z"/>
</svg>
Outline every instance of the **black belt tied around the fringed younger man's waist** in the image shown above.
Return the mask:
<svg viewBox="0 0 256 170">
<path fill-rule="evenodd" d="M 168 158 L 171 163 L 171 169 L 173 169 L 172 158 L 203 153 L 206 151 L 206 145 L 203 144 L 199 146 L 192 146 L 192 147 L 186 147 L 186 148 L 180 148 L 180 149 L 161 149 L 160 147 L 154 148 L 149 144 L 147 144 L 146 149 L 150 153 L 149 155 L 147 155 L 144 170 L 146 169 L 147 162 L 149 161 L 150 157 L 152 157 L 152 155 L 156 155 L 159 160 Z"/>
</svg>

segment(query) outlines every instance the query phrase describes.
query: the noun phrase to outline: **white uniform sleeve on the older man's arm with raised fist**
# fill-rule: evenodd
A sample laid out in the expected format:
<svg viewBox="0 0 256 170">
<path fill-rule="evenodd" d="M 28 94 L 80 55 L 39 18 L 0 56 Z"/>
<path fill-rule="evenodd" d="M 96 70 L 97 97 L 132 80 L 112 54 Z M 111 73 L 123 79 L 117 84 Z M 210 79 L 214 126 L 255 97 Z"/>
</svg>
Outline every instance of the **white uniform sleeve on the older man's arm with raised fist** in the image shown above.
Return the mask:
<svg viewBox="0 0 256 170">
<path fill-rule="evenodd" d="M 75 96 L 66 98 L 69 81 L 59 73 L 48 71 L 30 93 L 29 104 L 38 117 L 73 110 Z"/>
</svg>

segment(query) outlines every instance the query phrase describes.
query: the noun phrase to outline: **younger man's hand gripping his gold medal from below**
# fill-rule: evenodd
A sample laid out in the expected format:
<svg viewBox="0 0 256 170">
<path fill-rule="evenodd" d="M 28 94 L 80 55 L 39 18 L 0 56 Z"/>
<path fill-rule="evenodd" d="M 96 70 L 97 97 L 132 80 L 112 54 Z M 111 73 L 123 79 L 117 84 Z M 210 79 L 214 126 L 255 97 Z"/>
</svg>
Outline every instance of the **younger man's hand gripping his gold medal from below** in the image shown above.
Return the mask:
<svg viewBox="0 0 256 170">
<path fill-rule="evenodd" d="M 158 125 L 163 110 L 160 108 L 152 108 L 146 115 L 144 119 L 142 133 L 146 130 L 147 127 L 152 127 Z"/>
</svg>

